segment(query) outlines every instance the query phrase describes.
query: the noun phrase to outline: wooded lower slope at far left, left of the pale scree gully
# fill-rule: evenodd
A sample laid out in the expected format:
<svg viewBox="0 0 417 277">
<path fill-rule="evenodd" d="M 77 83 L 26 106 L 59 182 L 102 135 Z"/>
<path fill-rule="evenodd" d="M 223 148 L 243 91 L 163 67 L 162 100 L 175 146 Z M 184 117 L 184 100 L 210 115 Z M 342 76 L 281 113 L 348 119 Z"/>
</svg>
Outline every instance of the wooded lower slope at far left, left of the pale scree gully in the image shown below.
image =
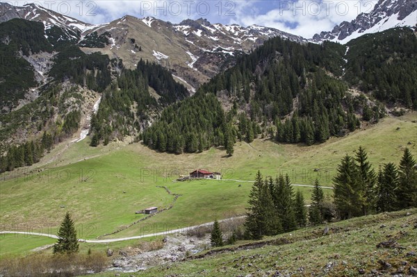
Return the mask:
<svg viewBox="0 0 417 277">
<path fill-rule="evenodd" d="M 19 131 L 19 128 L 38 133 L 35 138 L 26 142 L 0 146 L 0 172 L 13 171 L 15 168 L 39 162 L 54 144 L 79 129 L 81 121 L 79 107 L 83 97 L 77 92 L 76 87 L 65 90 L 62 94 L 61 90 L 62 87 L 59 86 L 50 87 L 32 103 L 0 117 L 2 121 L 7 122 L 1 130 L 2 140 Z M 70 98 L 76 99 L 77 106 L 72 106 L 72 102 L 68 106 L 67 99 Z M 67 110 L 70 111 L 65 114 Z M 56 115 L 58 116 L 55 120 Z"/>
</svg>

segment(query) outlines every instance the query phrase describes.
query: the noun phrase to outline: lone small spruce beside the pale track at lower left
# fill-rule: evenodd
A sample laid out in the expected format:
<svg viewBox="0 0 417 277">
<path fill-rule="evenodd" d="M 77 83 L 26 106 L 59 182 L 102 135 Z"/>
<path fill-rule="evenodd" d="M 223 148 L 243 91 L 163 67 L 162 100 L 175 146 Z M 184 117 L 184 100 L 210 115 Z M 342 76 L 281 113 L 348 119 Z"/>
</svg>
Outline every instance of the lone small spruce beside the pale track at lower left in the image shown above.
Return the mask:
<svg viewBox="0 0 417 277">
<path fill-rule="evenodd" d="M 76 253 L 79 251 L 79 243 L 76 238 L 74 221 L 70 212 L 65 214 L 63 222 L 58 229 L 58 242 L 54 244 L 54 253 Z"/>
</svg>

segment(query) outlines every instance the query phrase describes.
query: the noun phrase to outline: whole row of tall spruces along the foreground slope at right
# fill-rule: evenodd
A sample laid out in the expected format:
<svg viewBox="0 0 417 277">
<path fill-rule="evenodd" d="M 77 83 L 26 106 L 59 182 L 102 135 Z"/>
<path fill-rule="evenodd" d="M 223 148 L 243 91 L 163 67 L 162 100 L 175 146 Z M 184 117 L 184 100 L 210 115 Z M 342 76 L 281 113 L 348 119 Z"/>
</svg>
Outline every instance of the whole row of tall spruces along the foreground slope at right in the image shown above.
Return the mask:
<svg viewBox="0 0 417 277">
<path fill-rule="evenodd" d="M 306 208 L 302 193 L 293 191 L 288 175 L 274 180 L 258 171 L 248 201 L 246 237 L 259 240 L 309 224 L 417 207 L 417 163 L 409 149 L 404 150 L 398 168 L 389 162 L 376 174 L 366 151 L 359 147 L 354 157 L 341 160 L 333 183 L 332 201 L 316 179 L 311 205 Z"/>
</svg>

